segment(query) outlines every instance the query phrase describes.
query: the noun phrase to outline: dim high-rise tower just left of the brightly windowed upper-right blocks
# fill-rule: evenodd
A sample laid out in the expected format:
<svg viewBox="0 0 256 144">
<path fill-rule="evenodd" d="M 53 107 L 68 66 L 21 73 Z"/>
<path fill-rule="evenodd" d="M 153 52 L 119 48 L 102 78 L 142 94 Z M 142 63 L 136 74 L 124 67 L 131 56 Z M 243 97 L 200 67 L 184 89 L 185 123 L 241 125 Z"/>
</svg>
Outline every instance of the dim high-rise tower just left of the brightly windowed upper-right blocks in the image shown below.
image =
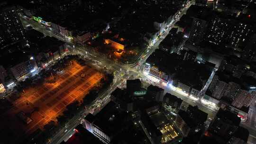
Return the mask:
<svg viewBox="0 0 256 144">
<path fill-rule="evenodd" d="M 192 44 L 197 44 L 202 40 L 207 24 L 208 23 L 206 20 L 193 18 L 192 27 L 189 34 L 189 41 Z"/>
</svg>

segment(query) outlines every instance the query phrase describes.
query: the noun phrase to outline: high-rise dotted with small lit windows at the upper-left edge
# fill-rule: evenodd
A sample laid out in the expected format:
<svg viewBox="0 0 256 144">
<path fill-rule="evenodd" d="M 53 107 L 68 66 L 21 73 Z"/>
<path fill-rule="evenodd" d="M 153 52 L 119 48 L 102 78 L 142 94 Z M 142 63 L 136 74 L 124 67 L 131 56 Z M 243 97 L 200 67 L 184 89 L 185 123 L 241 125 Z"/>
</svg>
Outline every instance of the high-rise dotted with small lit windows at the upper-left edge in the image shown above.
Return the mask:
<svg viewBox="0 0 256 144">
<path fill-rule="evenodd" d="M 19 20 L 16 7 L 0 4 L 0 48 L 21 42 L 25 39 L 24 28 Z"/>
</svg>

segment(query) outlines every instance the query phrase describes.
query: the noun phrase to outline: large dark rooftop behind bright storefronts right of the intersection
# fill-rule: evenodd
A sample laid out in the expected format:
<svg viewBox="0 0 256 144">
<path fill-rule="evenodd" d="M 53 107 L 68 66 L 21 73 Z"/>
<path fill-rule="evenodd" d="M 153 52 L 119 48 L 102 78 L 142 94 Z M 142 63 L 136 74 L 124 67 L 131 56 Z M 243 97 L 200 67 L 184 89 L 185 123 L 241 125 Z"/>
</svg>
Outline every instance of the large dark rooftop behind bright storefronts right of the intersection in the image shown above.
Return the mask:
<svg viewBox="0 0 256 144">
<path fill-rule="evenodd" d="M 159 49 L 148 57 L 146 63 L 158 68 L 161 72 L 175 74 L 174 80 L 179 80 L 188 86 L 196 86 L 201 83 L 201 80 L 208 80 L 211 73 L 207 64 L 183 61 L 180 55 L 167 54 Z"/>
</svg>

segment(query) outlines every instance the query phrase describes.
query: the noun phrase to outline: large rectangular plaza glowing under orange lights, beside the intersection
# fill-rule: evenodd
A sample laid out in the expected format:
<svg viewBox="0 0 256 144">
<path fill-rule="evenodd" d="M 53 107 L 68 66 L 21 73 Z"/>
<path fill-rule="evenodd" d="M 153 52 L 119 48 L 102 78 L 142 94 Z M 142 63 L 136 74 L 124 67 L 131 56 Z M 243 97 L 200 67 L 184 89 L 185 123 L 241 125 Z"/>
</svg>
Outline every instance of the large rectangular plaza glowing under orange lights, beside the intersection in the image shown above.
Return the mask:
<svg viewBox="0 0 256 144">
<path fill-rule="evenodd" d="M 102 77 L 103 74 L 94 68 L 73 61 L 72 66 L 55 76 L 54 82 L 44 82 L 25 89 L 21 97 L 13 102 L 14 106 L 6 112 L 6 118 L 1 124 L 8 126 L 17 136 L 31 134 L 49 121 L 56 121 L 56 117 L 62 114 L 68 104 L 82 100 Z M 26 124 L 20 120 L 17 117 L 20 111 L 30 117 L 32 122 Z"/>
</svg>

